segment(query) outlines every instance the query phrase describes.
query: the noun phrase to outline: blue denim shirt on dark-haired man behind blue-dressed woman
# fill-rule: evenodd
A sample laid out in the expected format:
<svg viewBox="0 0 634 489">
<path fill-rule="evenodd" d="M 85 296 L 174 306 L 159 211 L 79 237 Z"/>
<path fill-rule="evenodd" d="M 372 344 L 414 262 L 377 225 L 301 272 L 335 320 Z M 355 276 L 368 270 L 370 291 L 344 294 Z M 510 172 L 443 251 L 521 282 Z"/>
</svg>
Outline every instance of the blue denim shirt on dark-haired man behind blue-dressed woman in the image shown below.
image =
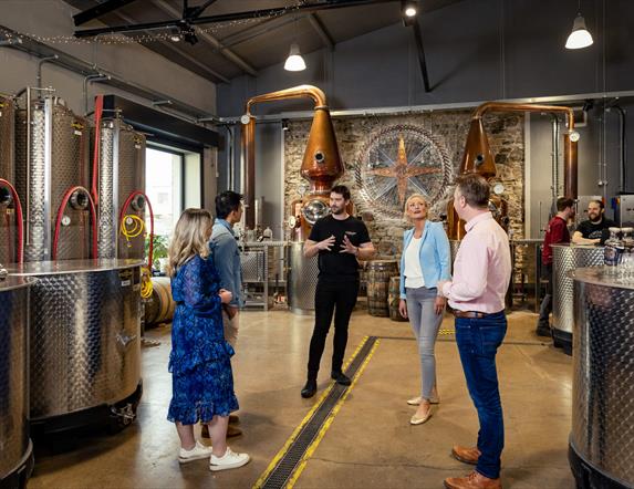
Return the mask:
<svg viewBox="0 0 634 489">
<path fill-rule="evenodd" d="M 241 308 L 242 300 L 242 268 L 240 250 L 231 225 L 225 219 L 216 219 L 211 230 L 211 242 L 216 245 L 214 263 L 220 275 L 220 288 L 233 294 L 229 305 Z"/>
</svg>

